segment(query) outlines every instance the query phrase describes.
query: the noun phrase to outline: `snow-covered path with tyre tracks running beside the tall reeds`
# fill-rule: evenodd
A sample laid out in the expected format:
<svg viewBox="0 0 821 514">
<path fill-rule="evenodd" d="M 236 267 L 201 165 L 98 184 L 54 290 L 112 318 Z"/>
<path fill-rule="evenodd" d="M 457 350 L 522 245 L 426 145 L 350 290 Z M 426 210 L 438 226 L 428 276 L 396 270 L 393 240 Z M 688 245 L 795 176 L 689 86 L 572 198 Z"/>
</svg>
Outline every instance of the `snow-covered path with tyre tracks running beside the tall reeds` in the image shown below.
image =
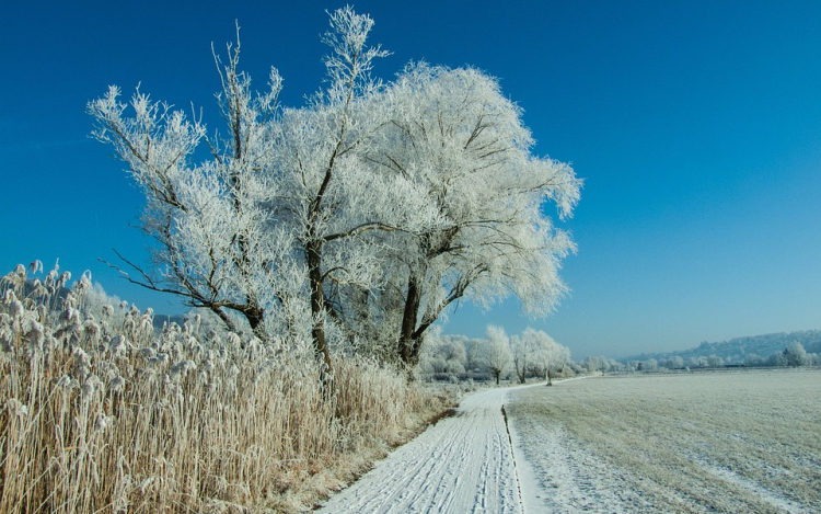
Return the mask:
<svg viewBox="0 0 821 514">
<path fill-rule="evenodd" d="M 465 398 L 456 414 L 397 448 L 321 513 L 522 513 L 501 412 L 510 388 Z"/>
</svg>

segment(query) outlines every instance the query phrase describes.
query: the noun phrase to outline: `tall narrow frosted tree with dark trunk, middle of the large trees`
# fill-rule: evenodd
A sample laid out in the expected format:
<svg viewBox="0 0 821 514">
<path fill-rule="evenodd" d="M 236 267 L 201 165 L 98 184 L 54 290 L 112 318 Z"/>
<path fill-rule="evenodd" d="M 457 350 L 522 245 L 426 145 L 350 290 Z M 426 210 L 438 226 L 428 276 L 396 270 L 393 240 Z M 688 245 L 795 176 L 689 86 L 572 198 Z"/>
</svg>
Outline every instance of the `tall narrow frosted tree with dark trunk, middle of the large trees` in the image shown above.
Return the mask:
<svg viewBox="0 0 821 514">
<path fill-rule="evenodd" d="M 384 56 L 368 47 L 373 21 L 350 8 L 331 14 L 324 42 L 327 88 L 308 107 L 285 110 L 274 127 L 276 183 L 269 203 L 277 220 L 290 227 L 297 253 L 304 260 L 312 318 L 311 339 L 317 356 L 331 367 L 326 341 L 328 316 L 344 313 L 331 299 L 327 284 L 363 285 L 375 279 L 375 254 L 368 231 L 391 229 L 383 221 L 396 205 L 391 187 L 362 165 L 362 152 L 384 123 L 373 60 Z"/>
</svg>

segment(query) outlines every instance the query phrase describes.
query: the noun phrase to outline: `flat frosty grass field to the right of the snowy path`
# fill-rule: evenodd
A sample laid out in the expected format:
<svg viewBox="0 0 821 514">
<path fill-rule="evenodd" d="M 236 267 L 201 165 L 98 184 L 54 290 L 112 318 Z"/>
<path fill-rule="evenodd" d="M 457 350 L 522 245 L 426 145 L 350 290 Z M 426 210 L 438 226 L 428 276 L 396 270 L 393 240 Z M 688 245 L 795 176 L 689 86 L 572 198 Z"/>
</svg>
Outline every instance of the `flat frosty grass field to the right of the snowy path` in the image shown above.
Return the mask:
<svg viewBox="0 0 821 514">
<path fill-rule="evenodd" d="M 593 377 L 506 402 L 537 512 L 821 512 L 821 372 Z"/>
</svg>

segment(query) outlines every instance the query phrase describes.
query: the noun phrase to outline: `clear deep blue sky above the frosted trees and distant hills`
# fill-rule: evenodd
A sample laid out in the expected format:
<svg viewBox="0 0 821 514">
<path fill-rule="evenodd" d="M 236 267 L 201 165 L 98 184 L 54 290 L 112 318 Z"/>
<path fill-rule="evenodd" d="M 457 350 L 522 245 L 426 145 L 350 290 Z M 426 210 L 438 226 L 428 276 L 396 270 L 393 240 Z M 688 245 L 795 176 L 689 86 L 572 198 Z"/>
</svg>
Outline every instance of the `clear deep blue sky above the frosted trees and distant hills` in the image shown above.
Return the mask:
<svg viewBox="0 0 821 514">
<path fill-rule="evenodd" d="M 157 311 L 164 296 L 97 260 L 146 262 L 142 198 L 88 138 L 108 84 L 215 121 L 210 45 L 242 27 L 257 83 L 282 100 L 321 85 L 325 10 L 344 1 L 10 1 L 0 12 L 0 272 L 34 259 Z M 585 179 L 573 293 L 529 320 L 462 305 L 446 333 L 545 330 L 574 357 L 667 351 L 821 328 L 821 2 L 359 1 L 372 43 L 408 60 L 473 65 L 525 111 L 542 156 Z M 216 128 L 217 123 L 210 125 Z"/>
</svg>

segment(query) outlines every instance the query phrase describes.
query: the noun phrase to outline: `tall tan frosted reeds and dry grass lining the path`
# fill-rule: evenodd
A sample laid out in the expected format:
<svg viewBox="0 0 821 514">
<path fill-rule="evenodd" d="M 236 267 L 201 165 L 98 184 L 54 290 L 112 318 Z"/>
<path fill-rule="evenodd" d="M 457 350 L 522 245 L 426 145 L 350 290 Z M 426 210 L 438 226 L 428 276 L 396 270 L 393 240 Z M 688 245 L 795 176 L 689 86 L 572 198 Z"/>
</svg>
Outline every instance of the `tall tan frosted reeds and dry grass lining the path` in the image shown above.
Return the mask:
<svg viewBox="0 0 821 514">
<path fill-rule="evenodd" d="M 59 277 L 25 278 L 8 275 L 0 302 L 3 513 L 294 512 L 444 410 L 357 359 L 337 359 L 326 400 L 284 349 L 157 334 L 136 309 L 84 318 L 88 281 L 63 301 Z"/>
</svg>

